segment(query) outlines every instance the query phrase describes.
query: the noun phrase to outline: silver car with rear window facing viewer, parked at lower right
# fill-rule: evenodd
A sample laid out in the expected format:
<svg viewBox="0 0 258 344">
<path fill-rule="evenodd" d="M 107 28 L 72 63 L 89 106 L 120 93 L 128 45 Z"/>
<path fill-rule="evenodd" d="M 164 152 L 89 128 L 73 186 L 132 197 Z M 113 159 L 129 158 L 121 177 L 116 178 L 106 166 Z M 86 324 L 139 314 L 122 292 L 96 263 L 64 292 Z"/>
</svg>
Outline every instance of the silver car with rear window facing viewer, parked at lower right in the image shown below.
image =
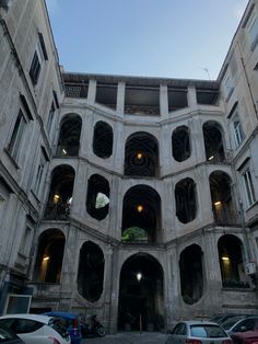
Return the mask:
<svg viewBox="0 0 258 344">
<path fill-rule="evenodd" d="M 231 337 L 215 322 L 210 321 L 180 321 L 171 334 L 165 344 L 232 344 Z"/>
</svg>

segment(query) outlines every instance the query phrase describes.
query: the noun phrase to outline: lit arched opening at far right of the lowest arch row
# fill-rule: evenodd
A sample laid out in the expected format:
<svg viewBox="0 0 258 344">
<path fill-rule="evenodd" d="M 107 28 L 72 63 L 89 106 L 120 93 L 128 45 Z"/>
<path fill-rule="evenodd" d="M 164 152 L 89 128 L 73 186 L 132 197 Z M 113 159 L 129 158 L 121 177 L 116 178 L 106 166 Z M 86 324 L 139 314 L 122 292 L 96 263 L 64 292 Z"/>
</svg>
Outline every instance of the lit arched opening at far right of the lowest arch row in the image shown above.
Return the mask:
<svg viewBox="0 0 258 344">
<path fill-rule="evenodd" d="M 242 241 L 232 234 L 220 238 L 218 242 L 222 286 L 226 288 L 249 287 L 243 263 Z"/>
</svg>

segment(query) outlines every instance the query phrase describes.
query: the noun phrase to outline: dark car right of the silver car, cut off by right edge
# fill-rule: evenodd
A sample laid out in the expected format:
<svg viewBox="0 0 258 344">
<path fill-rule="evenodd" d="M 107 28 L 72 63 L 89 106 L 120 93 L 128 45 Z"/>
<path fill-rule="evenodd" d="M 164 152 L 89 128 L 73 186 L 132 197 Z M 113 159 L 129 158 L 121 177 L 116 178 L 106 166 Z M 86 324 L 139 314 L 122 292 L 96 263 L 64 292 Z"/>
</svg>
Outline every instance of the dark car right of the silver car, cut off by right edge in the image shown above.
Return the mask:
<svg viewBox="0 0 258 344">
<path fill-rule="evenodd" d="M 258 329 L 258 316 L 236 316 L 221 324 L 227 334 Z"/>
</svg>

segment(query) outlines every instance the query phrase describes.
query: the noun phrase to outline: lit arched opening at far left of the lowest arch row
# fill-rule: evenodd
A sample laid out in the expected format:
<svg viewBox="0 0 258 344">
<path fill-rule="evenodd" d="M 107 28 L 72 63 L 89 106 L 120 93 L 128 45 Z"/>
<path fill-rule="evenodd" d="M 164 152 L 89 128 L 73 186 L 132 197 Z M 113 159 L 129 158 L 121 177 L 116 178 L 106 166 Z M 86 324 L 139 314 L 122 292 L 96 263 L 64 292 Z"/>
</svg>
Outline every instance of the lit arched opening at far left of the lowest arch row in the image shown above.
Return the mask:
<svg viewBox="0 0 258 344">
<path fill-rule="evenodd" d="M 59 283 L 66 238 L 58 229 L 49 229 L 40 234 L 34 279 L 40 283 Z"/>
</svg>

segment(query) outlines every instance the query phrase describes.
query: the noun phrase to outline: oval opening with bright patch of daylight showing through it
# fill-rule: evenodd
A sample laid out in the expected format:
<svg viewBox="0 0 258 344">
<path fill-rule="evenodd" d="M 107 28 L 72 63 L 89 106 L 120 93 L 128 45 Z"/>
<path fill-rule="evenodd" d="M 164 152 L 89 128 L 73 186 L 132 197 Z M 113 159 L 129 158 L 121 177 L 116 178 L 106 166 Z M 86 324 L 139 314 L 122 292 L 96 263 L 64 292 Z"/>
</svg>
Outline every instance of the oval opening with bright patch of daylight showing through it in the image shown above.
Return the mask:
<svg viewBox="0 0 258 344">
<path fill-rule="evenodd" d="M 86 210 L 97 220 L 103 220 L 109 210 L 109 183 L 99 175 L 93 174 L 87 181 Z"/>
</svg>

